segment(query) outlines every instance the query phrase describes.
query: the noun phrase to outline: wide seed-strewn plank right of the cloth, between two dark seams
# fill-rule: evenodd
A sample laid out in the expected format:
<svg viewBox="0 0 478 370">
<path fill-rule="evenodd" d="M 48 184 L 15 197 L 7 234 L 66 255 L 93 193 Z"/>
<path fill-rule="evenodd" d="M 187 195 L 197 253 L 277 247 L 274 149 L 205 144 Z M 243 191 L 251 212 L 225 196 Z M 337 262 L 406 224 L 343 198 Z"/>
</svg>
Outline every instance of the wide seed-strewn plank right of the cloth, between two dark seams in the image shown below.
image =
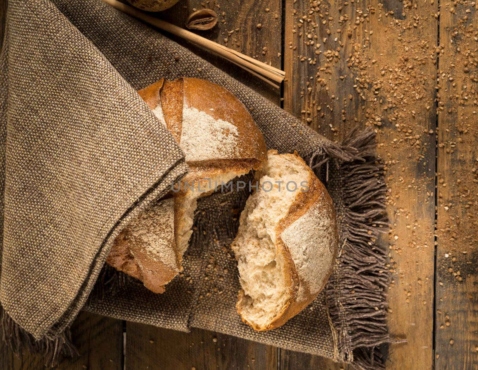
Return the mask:
<svg viewBox="0 0 478 370">
<path fill-rule="evenodd" d="M 435 1 L 285 5 L 284 108 L 339 140 L 373 125 L 390 187 L 388 366 L 433 364 Z M 430 133 L 429 133 L 430 132 Z M 385 269 L 385 270 L 386 270 Z M 281 351 L 286 355 L 286 351 Z"/>
</svg>

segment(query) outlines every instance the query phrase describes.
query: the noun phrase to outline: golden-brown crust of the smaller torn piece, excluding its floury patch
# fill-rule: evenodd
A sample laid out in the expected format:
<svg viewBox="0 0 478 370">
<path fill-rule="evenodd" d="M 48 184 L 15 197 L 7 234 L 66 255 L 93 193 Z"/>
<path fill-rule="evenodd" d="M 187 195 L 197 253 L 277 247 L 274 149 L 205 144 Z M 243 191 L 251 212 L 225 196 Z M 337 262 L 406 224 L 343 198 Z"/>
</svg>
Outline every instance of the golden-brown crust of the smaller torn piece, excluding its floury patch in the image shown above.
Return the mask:
<svg viewBox="0 0 478 370">
<path fill-rule="evenodd" d="M 277 154 L 276 150 L 269 150 L 269 155 Z M 283 325 L 287 320 L 301 312 L 306 306 L 308 306 L 318 295 L 322 289 L 324 289 L 325 284 L 332 273 L 335 264 L 335 257 L 337 256 L 338 250 L 338 231 L 337 231 L 337 216 L 336 212 L 332 203 L 332 199 L 330 198 L 324 184 L 315 176 L 315 173 L 312 169 L 306 165 L 304 160 L 294 152 L 293 154 L 297 157 L 303 164 L 304 168 L 307 168 L 309 173 L 308 179 L 308 186 L 309 191 L 299 191 L 295 197 L 294 202 L 291 204 L 288 213 L 286 216 L 280 221 L 280 223 L 276 227 L 276 248 L 277 253 L 282 254 L 284 258 L 284 275 L 285 280 L 288 286 L 288 294 L 289 294 L 289 301 L 284 305 L 282 311 L 276 316 L 276 318 L 266 326 L 257 326 L 253 323 L 248 322 L 245 320 L 242 315 L 240 314 L 239 310 L 239 302 L 242 299 L 244 292 L 242 289 L 239 291 L 238 295 L 238 303 L 236 304 L 236 308 L 238 310 L 239 315 L 241 315 L 241 319 L 244 323 L 250 325 L 256 331 L 265 331 L 275 329 L 281 325 Z M 323 279 L 321 286 L 315 292 L 311 292 L 309 289 L 309 282 L 307 281 L 306 277 L 301 276 L 299 271 L 296 268 L 296 265 L 293 261 L 291 252 L 287 245 L 282 240 L 282 233 L 287 227 L 291 226 L 296 220 L 300 217 L 304 217 L 304 215 L 313 207 L 317 202 L 321 202 L 321 210 L 324 217 L 330 218 L 333 222 L 333 230 L 332 230 L 332 238 L 334 242 L 329 246 L 329 253 L 333 256 L 331 263 L 327 266 L 328 270 L 326 272 L 325 279 Z M 299 288 L 303 289 L 301 292 L 301 297 L 298 297 Z"/>
</svg>

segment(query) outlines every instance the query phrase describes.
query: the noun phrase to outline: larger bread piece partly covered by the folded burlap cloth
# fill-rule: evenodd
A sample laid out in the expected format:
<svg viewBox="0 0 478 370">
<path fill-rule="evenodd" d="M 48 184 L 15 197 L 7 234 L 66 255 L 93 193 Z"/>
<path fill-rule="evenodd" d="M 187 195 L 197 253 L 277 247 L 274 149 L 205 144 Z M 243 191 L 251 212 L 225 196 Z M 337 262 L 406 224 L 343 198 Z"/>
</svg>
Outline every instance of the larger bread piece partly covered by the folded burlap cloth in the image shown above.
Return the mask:
<svg viewBox="0 0 478 370">
<path fill-rule="evenodd" d="M 190 170 L 169 200 L 153 204 L 125 227 L 107 262 L 153 292 L 164 292 L 164 285 L 182 270 L 197 199 L 214 191 L 216 183 L 261 168 L 267 149 L 246 107 L 212 82 L 161 78 L 138 94 L 179 143 Z M 168 231 L 161 219 L 166 214 L 174 220 Z"/>
</svg>

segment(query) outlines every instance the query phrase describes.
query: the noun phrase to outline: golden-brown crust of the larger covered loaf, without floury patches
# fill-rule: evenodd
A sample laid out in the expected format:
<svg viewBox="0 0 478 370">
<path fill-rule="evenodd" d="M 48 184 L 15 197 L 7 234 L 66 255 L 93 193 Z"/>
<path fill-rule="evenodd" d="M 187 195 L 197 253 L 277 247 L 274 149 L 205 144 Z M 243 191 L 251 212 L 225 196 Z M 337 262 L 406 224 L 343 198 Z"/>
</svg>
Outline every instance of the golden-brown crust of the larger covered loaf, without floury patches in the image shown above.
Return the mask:
<svg viewBox="0 0 478 370">
<path fill-rule="evenodd" d="M 227 121 L 237 127 L 239 151 L 235 151 L 236 155 L 231 157 L 219 147 L 219 156 L 214 160 L 187 161 L 190 171 L 182 180 L 183 184 L 185 181 L 202 180 L 231 171 L 236 174 L 247 173 L 250 169 L 261 168 L 262 162 L 267 159 L 264 138 L 250 113 L 234 95 L 222 87 L 197 78 L 178 78 L 174 81 L 161 78 L 139 90 L 138 94 L 166 125 L 180 146 L 183 144 L 181 134 L 186 104 L 199 112 L 206 112 L 215 120 Z M 184 185 L 182 188 L 184 189 Z M 171 248 L 175 251 L 177 266 L 171 268 L 161 259 L 152 260 L 142 254 L 141 243 L 137 244 L 131 239 L 128 226 L 116 238 L 107 258 L 111 266 L 142 280 L 153 292 L 163 292 L 163 286 L 181 269 L 182 254 L 178 251 L 175 240 L 178 240 L 177 233 L 181 229 L 181 205 L 185 192 L 172 192 L 168 197 L 171 196 L 174 198 L 174 240 Z"/>
</svg>

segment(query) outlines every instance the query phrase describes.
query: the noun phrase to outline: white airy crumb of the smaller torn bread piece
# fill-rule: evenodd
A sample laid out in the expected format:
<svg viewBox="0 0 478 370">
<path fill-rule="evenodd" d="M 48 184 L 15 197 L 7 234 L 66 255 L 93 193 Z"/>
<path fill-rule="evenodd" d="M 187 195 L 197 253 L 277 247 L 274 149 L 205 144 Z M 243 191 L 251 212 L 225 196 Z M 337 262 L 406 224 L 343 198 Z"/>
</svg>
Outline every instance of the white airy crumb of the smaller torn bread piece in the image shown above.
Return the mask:
<svg viewBox="0 0 478 370">
<path fill-rule="evenodd" d="M 256 178 L 259 190 L 246 202 L 231 247 L 238 261 L 242 287 L 238 312 L 256 330 L 261 330 L 280 315 L 290 298 L 284 259 L 275 243 L 276 227 L 288 213 L 309 173 L 297 157 L 269 153 L 269 160 L 256 173 Z M 280 190 L 276 181 L 283 181 Z M 289 189 L 293 190 L 293 184 L 297 184 L 296 191 L 286 189 L 290 181 L 293 183 L 289 183 Z M 271 183 L 272 190 L 267 191 Z"/>
</svg>

